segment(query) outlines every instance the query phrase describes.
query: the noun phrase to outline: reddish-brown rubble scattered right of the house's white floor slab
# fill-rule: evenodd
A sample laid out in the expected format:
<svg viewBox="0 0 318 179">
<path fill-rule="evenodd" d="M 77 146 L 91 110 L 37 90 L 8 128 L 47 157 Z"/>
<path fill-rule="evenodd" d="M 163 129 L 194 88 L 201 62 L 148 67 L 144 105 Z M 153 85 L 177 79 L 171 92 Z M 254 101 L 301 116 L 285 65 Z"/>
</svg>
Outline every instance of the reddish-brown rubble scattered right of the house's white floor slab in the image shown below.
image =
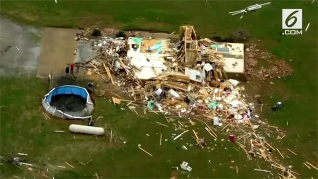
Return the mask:
<svg viewBox="0 0 318 179">
<path fill-rule="evenodd" d="M 284 60 L 275 60 L 275 56 L 269 52 L 262 52 L 255 44 L 246 44 L 245 49 L 245 73 L 246 75 L 258 79 L 283 78 L 293 73 L 292 67 Z M 259 60 L 263 60 L 268 67 L 256 68 Z"/>
</svg>

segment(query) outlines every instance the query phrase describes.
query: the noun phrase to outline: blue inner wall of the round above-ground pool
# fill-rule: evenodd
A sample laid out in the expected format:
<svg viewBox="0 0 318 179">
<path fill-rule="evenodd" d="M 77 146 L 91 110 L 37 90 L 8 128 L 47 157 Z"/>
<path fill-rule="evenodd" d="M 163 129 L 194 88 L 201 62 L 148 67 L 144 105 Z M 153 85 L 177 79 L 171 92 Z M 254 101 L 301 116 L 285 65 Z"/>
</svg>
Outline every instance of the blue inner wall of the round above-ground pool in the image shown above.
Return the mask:
<svg viewBox="0 0 318 179">
<path fill-rule="evenodd" d="M 58 95 L 58 94 L 75 94 L 75 95 L 80 95 L 84 99 L 87 99 L 88 97 L 88 92 L 84 88 L 80 88 L 78 86 L 62 86 L 52 90 L 50 94 L 46 96 L 46 101 L 50 104 L 52 96 Z"/>
</svg>

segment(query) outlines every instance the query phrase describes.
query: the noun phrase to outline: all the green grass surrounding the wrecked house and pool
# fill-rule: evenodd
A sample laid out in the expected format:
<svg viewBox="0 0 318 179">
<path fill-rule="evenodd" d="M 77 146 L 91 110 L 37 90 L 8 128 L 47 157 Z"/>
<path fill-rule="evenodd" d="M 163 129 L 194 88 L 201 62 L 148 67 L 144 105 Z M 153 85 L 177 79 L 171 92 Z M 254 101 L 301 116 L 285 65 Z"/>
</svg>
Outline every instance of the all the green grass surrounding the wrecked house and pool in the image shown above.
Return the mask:
<svg viewBox="0 0 318 179">
<path fill-rule="evenodd" d="M 302 178 L 318 178 L 317 171 L 302 165 L 304 161 L 317 164 L 318 159 L 317 1 L 313 4 L 311 0 L 273 1 L 242 19 L 239 15 L 228 14 L 257 2 L 260 1 L 208 1 L 204 7 L 205 1 L 1 1 L 0 11 L 20 22 L 37 26 L 103 25 L 172 32 L 177 31 L 179 25 L 192 24 L 199 35 L 206 37 L 228 37 L 236 29 L 247 29 L 253 40 L 260 40 L 259 48 L 285 59 L 294 68 L 292 76 L 272 80 L 275 83 L 273 89 L 265 83 L 255 93 L 260 93 L 262 100 L 269 104 L 282 100 L 283 110 L 272 112 L 266 109 L 262 117 L 287 131 L 286 137 L 275 143 L 277 147 L 298 151 L 298 156 L 284 159 L 286 164 L 292 165 Z M 303 35 L 281 35 L 282 8 L 302 8 L 303 27 L 310 22 L 309 30 Z M 213 141 L 217 146 L 210 152 L 196 147 L 177 150 L 176 147 L 185 143 L 193 144 L 189 136 L 177 143 L 167 141 L 159 146 L 159 133 L 165 139 L 170 139 L 172 133 L 179 133 L 171 126 L 165 128 L 154 123 L 164 123 L 162 116 L 154 114 L 148 119 L 141 118 L 101 98 L 96 99 L 94 117 L 103 115 L 98 124 L 110 126 L 127 141 L 126 145 L 110 146 L 107 137 L 52 133 L 52 130 L 67 130 L 71 122 L 43 118 L 40 98 L 46 90 L 45 83 L 39 79 L 1 78 L 1 156 L 23 152 L 29 154 L 26 159 L 32 162 L 50 158 L 55 165 L 66 166 L 64 162 L 69 162 L 75 166 L 75 170 L 51 171 L 50 176 L 56 178 L 92 178 L 95 172 L 103 178 L 168 178 L 170 167 L 178 166 L 182 161 L 193 167 L 190 178 L 266 178 L 265 174 L 252 171 L 256 168 L 255 161 L 246 162 L 245 155 L 226 141 Z M 192 128 L 210 139 L 200 131 L 201 124 Z M 140 151 L 138 144 L 154 156 Z M 93 161 L 86 166 L 78 162 L 85 163 L 90 159 Z M 235 163 L 231 163 L 232 160 Z M 260 160 L 258 164 L 262 169 L 269 169 Z M 231 166 L 238 166 L 239 174 L 230 169 Z M 1 178 L 41 176 L 21 171 L 13 165 L 0 167 Z"/>
</svg>

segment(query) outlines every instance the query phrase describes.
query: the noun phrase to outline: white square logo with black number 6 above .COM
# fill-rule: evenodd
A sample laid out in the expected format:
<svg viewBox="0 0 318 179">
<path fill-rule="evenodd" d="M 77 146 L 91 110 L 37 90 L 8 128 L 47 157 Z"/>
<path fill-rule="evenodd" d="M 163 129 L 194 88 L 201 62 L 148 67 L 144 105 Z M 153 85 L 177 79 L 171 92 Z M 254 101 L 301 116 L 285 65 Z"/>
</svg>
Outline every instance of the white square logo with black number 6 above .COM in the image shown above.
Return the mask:
<svg viewBox="0 0 318 179">
<path fill-rule="evenodd" d="M 303 9 L 283 9 L 283 29 L 303 28 Z"/>
</svg>

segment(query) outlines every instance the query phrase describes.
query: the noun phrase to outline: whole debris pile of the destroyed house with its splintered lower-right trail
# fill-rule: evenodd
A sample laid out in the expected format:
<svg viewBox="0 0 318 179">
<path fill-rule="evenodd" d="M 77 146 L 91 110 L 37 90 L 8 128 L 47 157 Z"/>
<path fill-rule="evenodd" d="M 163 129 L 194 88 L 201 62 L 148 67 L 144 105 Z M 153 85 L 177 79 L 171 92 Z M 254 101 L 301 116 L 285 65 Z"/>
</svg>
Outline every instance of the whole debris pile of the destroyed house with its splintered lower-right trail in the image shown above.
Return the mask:
<svg viewBox="0 0 318 179">
<path fill-rule="evenodd" d="M 152 37 L 102 37 L 100 42 L 91 44 L 93 48 L 100 49 L 85 66 L 87 74 L 99 75 L 106 83 L 120 86 L 122 91 L 133 98 L 128 100 L 116 95 L 112 97 L 115 104 L 127 102 L 127 106 L 138 115 L 135 108 L 142 108 L 145 114 L 147 111 L 162 113 L 168 123 L 178 117 L 189 119 L 191 124 L 194 123 L 191 119 L 204 121 L 205 130 L 216 140 L 218 136 L 214 132 L 215 128 L 221 131 L 226 129 L 229 141 L 237 143 L 249 160 L 251 157 L 259 157 L 283 168 L 271 156 L 273 151 L 279 150 L 267 143 L 262 134 L 256 133 L 261 128 L 271 136 L 273 126 L 257 119 L 254 104 L 246 102 L 246 95 L 242 94 L 244 87 L 238 86 L 237 80 L 227 79 L 224 73 L 224 57 L 237 56 L 226 53 L 232 48 L 231 44 L 225 43 L 220 47 L 210 39 L 197 40 L 193 26 L 181 26 L 179 34 L 180 38 L 174 42 L 171 39 Z M 265 61 L 273 57 L 259 52 L 255 45 L 248 45 L 245 53 L 248 67 L 254 67 L 257 61 L 253 60 L 260 56 Z M 282 71 L 281 67 L 278 68 L 276 71 Z M 253 71 L 248 72 L 249 75 L 255 74 Z M 107 77 L 103 74 L 107 74 Z M 284 76 L 281 72 L 274 73 L 271 70 L 266 70 L 265 74 Z M 103 90 L 94 92 L 104 96 Z M 179 129 L 185 130 L 184 127 L 180 124 Z M 275 130 L 282 135 L 277 128 Z M 198 146 L 204 148 L 204 140 L 193 132 Z"/>
</svg>

